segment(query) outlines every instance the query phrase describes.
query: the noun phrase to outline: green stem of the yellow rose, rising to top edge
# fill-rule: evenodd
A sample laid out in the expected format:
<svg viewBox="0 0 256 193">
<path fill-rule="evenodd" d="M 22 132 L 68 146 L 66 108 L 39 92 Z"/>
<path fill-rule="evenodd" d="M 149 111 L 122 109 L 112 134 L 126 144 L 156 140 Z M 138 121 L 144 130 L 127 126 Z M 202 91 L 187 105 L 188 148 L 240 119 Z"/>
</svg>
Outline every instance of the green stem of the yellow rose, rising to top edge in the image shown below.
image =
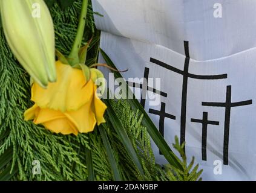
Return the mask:
<svg viewBox="0 0 256 193">
<path fill-rule="evenodd" d="M 82 39 L 84 36 L 85 22 L 87 17 L 88 0 L 83 0 L 82 10 L 80 13 L 79 24 L 76 33 L 76 39 L 74 40 L 73 47 L 71 49 L 70 55 L 68 55 L 68 62 L 71 66 L 79 63 L 79 49 L 82 44 Z"/>
</svg>

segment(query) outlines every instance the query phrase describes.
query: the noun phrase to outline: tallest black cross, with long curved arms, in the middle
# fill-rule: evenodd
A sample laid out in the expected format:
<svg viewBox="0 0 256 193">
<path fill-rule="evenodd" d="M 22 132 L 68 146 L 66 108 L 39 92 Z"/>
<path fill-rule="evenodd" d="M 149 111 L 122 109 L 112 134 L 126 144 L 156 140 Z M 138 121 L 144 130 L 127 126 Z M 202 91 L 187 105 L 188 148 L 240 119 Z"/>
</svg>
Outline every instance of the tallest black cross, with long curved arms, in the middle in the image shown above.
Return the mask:
<svg viewBox="0 0 256 193">
<path fill-rule="evenodd" d="M 169 71 L 176 72 L 183 76 L 183 86 L 182 86 L 182 109 L 180 115 L 180 144 L 183 144 L 186 139 L 186 101 L 187 101 L 187 92 L 188 92 L 188 78 L 194 78 L 199 80 L 218 80 L 228 78 L 227 74 L 222 75 L 196 75 L 189 73 L 189 42 L 184 42 L 185 47 L 185 65 L 183 71 L 173 66 L 167 65 L 166 63 L 160 62 L 159 60 L 150 59 L 150 62 L 155 63 L 156 65 L 162 66 L 163 68 L 168 69 Z"/>
</svg>

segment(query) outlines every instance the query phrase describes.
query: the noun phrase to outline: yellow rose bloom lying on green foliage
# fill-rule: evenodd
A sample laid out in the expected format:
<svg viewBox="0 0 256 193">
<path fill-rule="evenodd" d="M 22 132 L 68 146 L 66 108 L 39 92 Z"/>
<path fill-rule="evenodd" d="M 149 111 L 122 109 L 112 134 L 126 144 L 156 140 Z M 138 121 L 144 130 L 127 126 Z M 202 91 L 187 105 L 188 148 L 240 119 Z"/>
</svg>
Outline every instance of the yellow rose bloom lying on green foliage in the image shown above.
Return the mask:
<svg viewBox="0 0 256 193">
<path fill-rule="evenodd" d="M 78 134 L 94 130 L 105 122 L 107 106 L 98 98 L 97 86 L 87 81 L 80 69 L 56 62 L 57 81 L 44 89 L 38 83 L 31 88 L 34 106 L 25 113 L 25 120 L 34 120 L 54 133 Z"/>
</svg>

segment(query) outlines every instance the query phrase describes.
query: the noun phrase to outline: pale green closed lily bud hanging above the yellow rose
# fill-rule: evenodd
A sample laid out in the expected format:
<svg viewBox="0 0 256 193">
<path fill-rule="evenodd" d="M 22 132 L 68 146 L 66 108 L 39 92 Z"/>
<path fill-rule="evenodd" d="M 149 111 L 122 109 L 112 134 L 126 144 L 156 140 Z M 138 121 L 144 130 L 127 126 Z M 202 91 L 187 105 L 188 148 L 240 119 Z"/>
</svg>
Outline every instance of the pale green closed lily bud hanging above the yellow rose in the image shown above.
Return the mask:
<svg viewBox="0 0 256 193">
<path fill-rule="evenodd" d="M 53 21 L 44 0 L 1 0 L 2 25 L 11 51 L 34 81 L 56 81 Z"/>
</svg>

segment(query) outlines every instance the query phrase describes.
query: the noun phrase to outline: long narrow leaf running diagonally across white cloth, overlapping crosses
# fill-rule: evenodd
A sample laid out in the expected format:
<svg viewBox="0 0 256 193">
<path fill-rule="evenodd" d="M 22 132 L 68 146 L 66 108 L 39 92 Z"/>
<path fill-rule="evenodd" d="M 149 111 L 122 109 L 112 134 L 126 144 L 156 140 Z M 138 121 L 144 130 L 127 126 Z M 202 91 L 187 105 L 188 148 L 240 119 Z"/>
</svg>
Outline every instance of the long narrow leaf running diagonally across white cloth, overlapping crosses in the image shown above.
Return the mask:
<svg viewBox="0 0 256 193">
<path fill-rule="evenodd" d="M 112 68 L 116 68 L 114 63 L 111 61 L 111 59 L 102 49 L 100 49 L 100 52 L 103 56 L 103 59 L 107 63 L 107 65 L 111 66 Z M 122 75 L 119 72 L 113 72 L 113 73 L 115 78 L 122 78 Z M 131 90 L 128 87 L 128 84 L 126 86 L 127 86 L 126 90 L 128 92 L 128 95 L 130 95 Z M 169 145 L 166 143 L 165 139 L 163 139 L 163 136 L 160 134 L 159 130 L 156 128 L 156 125 L 154 125 L 153 121 L 149 118 L 148 114 L 145 112 L 145 109 L 143 109 L 143 107 L 141 106 L 141 104 L 139 103 L 139 101 L 136 99 L 134 95 L 133 95 L 133 98 L 134 99 L 132 100 L 128 100 L 128 102 L 130 103 L 131 107 L 133 107 L 133 109 L 139 109 L 140 112 L 143 113 L 142 125 L 144 125 L 147 128 L 149 135 L 151 136 L 151 138 L 153 139 L 153 141 L 155 142 L 159 150 L 162 152 L 163 156 L 165 156 L 166 160 L 169 162 L 170 165 L 176 168 L 182 169 L 182 166 L 177 160 L 177 156 L 175 156 L 175 154 L 172 152 Z"/>
</svg>

